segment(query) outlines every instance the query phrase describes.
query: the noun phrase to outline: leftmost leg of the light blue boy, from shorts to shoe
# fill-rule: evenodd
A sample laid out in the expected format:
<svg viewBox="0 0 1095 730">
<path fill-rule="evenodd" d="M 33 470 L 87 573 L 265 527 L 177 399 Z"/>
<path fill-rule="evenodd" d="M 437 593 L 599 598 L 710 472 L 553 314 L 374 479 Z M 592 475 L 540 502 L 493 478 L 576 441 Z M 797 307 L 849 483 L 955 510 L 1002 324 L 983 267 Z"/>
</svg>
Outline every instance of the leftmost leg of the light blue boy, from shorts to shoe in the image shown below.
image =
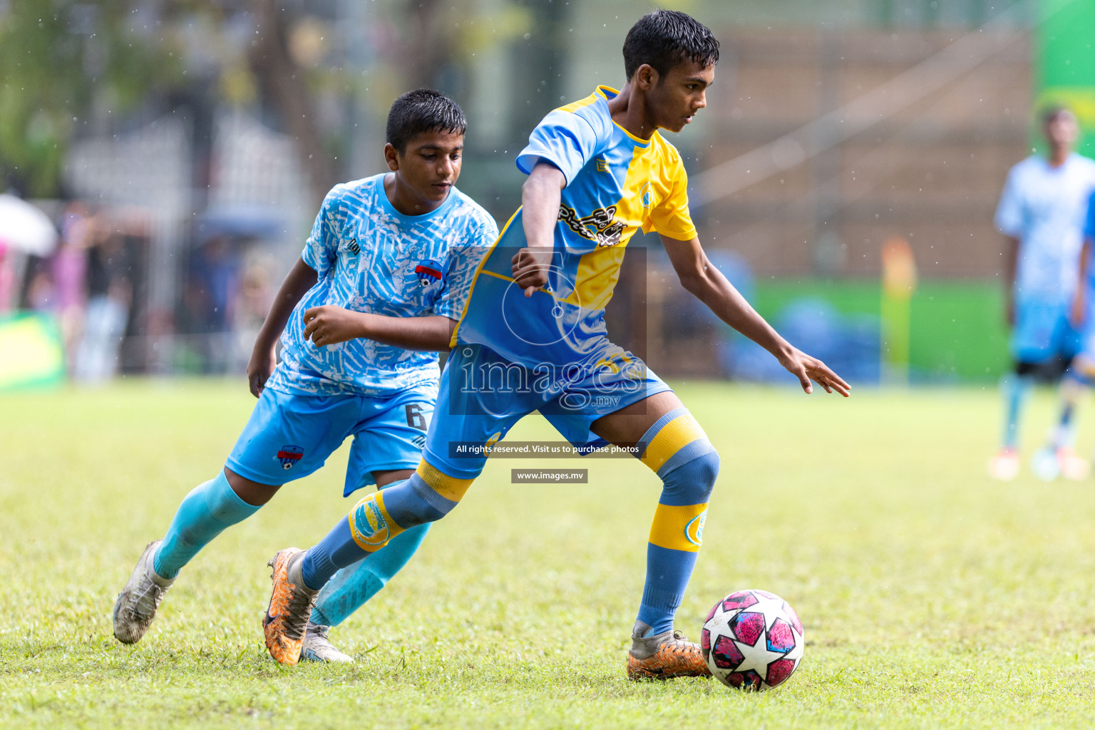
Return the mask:
<svg viewBox="0 0 1095 730">
<path fill-rule="evenodd" d="M 140 640 L 178 571 L 205 545 L 258 511 L 283 483 L 323 465 L 358 420 L 356 398 L 263 391 L 226 466 L 186 495 L 163 538 L 141 554 L 114 605 L 119 641 Z"/>
</svg>

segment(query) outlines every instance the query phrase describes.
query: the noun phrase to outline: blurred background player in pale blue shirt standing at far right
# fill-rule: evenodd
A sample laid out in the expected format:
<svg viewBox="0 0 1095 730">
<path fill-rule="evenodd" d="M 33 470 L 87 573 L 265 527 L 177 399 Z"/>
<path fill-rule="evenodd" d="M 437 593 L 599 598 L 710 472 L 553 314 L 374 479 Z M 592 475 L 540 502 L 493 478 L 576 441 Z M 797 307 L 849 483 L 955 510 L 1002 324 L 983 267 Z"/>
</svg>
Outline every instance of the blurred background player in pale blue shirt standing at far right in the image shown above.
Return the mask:
<svg viewBox="0 0 1095 730">
<path fill-rule="evenodd" d="M 1002 382 L 1003 443 L 989 460 L 989 474 L 1005 480 L 1019 470 L 1018 424 L 1031 385 L 1036 380 L 1057 382 L 1080 349 L 1070 314 L 1077 294 L 1087 200 L 1095 189 L 1095 161 L 1072 151 L 1080 129 L 1071 111 L 1047 109 L 1042 131 L 1047 157 L 1033 154 L 1012 167 L 995 216 L 1006 237 L 1005 316 L 1015 368 Z M 1074 404 L 1086 380 L 1072 371 L 1062 385 L 1061 420 L 1031 461 L 1041 478 L 1087 475 L 1087 462 L 1073 449 L 1072 427 Z"/>
</svg>

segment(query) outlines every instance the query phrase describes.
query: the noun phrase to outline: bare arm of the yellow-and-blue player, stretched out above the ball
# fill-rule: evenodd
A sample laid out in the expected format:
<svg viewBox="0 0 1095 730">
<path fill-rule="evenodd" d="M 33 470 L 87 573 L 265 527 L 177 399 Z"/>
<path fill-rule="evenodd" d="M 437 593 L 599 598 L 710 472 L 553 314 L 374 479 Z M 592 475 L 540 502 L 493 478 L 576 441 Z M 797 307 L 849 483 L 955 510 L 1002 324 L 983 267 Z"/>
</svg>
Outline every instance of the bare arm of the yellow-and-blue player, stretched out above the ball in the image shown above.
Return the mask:
<svg viewBox="0 0 1095 730">
<path fill-rule="evenodd" d="M 804 391 L 814 391 L 810 385 L 814 380 L 826 393 L 837 391 L 848 397 L 851 386 L 823 362 L 793 347 L 764 317 L 757 314 L 723 273 L 707 260 L 699 239 L 678 241 L 662 235 L 661 243 L 681 286 L 706 304 L 719 320 L 771 352 L 780 364 L 798 378 Z"/>
</svg>

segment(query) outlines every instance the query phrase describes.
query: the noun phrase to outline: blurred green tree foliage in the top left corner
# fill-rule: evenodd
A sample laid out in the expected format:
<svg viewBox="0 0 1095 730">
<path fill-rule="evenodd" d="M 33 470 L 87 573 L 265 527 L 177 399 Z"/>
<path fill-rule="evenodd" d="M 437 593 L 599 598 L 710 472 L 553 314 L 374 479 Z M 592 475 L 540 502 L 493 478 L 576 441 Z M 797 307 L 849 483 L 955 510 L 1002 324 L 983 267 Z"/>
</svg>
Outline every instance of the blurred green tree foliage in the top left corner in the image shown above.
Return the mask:
<svg viewBox="0 0 1095 730">
<path fill-rule="evenodd" d="M 182 67 L 126 0 L 0 4 L 0 185 L 59 194 L 73 134 L 138 105 Z"/>
</svg>

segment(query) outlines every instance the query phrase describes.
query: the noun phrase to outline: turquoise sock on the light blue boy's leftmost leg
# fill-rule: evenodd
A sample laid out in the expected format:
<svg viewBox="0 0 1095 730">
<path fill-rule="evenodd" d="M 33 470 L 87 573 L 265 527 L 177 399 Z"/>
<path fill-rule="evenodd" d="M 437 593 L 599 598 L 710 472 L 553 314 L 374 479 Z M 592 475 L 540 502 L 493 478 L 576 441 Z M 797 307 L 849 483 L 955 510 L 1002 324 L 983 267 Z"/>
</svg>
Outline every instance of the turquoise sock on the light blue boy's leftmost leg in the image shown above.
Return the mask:
<svg viewBox="0 0 1095 730">
<path fill-rule="evenodd" d="M 258 507 L 240 499 L 221 470 L 217 478 L 198 485 L 183 498 L 152 568 L 161 578 L 174 578 L 224 528 L 247 519 Z"/>
</svg>

